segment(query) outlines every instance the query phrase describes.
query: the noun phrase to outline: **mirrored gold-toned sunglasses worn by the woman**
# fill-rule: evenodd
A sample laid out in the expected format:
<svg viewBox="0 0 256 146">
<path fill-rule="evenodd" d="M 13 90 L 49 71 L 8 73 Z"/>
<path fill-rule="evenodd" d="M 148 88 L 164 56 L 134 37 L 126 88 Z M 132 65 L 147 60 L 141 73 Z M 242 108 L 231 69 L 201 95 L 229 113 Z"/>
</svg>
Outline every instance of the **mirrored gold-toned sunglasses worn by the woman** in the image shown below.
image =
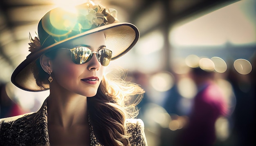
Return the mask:
<svg viewBox="0 0 256 146">
<path fill-rule="evenodd" d="M 95 53 L 101 65 L 108 66 L 112 57 L 112 51 L 106 48 L 101 48 L 98 51 L 92 51 L 88 47 L 77 46 L 69 50 L 71 51 L 72 61 L 75 64 L 85 64 L 86 62 L 89 62 L 92 59 L 92 55 Z"/>
</svg>

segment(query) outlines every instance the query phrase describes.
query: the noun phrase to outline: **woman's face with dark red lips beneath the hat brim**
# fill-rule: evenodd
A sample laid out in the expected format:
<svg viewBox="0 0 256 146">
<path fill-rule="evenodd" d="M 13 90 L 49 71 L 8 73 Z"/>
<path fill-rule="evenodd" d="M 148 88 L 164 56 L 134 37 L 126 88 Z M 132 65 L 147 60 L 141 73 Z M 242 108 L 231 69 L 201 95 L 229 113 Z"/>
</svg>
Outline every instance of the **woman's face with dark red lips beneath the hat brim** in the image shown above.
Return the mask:
<svg viewBox="0 0 256 146">
<path fill-rule="evenodd" d="M 92 33 L 72 40 L 62 47 L 72 49 L 81 45 L 92 51 L 106 48 L 105 35 L 103 32 Z M 85 64 L 75 64 L 68 49 L 59 49 L 56 58 L 52 60 L 54 88 L 58 86 L 60 91 L 69 91 L 86 97 L 96 95 L 105 67 L 97 60 L 96 54 L 93 54 Z"/>
</svg>

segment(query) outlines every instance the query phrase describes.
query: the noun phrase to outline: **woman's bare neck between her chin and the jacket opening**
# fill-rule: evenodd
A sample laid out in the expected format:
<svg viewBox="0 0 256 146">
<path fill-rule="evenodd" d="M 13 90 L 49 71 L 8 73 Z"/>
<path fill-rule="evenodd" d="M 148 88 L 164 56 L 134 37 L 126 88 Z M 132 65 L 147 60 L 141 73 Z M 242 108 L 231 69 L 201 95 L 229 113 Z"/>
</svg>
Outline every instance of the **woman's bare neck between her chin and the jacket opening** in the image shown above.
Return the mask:
<svg viewBox="0 0 256 146">
<path fill-rule="evenodd" d="M 87 124 L 87 97 L 74 93 L 50 91 L 47 113 L 48 124 L 63 128 Z"/>
</svg>

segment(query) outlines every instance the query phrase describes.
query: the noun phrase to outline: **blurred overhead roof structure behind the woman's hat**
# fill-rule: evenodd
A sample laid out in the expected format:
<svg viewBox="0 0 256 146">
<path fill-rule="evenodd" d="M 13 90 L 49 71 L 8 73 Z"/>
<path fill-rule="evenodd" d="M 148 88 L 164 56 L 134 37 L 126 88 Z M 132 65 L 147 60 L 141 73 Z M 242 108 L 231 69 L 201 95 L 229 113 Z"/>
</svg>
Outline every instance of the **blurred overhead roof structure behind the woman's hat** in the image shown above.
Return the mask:
<svg viewBox="0 0 256 146">
<path fill-rule="evenodd" d="M 86 0 L 84 0 L 86 1 Z M 97 2 L 97 0 L 94 0 Z M 150 30 L 167 30 L 180 20 L 192 20 L 238 0 L 101 0 L 117 9 L 124 20 L 135 24 L 141 36 Z M 0 1 L 0 82 L 8 82 L 12 71 L 29 54 L 29 32 L 36 31 L 40 18 L 58 0 Z M 64 1 L 60 1 L 64 2 Z M 80 1 L 81 2 L 81 1 Z M 164 34 L 168 46 L 168 32 Z M 166 50 L 168 51 L 168 50 Z M 168 53 L 166 53 L 168 54 Z"/>
</svg>

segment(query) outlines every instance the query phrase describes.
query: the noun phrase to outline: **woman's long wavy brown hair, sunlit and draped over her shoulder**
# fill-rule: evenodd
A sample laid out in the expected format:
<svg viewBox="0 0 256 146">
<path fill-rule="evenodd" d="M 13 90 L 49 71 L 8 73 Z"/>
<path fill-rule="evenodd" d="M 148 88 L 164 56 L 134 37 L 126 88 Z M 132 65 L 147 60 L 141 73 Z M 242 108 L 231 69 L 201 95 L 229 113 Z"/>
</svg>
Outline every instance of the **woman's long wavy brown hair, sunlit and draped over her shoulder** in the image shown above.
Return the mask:
<svg viewBox="0 0 256 146">
<path fill-rule="evenodd" d="M 45 55 L 53 59 L 57 50 Z M 43 71 L 39 59 L 33 73 L 38 86 L 45 88 L 44 84 L 49 84 L 49 75 Z M 141 101 L 144 90 L 138 84 L 126 81 L 126 73 L 123 69 L 107 73 L 97 94 L 87 98 L 94 134 L 106 146 L 130 146 L 125 122 L 127 118 L 138 115 L 136 105 Z"/>
</svg>

